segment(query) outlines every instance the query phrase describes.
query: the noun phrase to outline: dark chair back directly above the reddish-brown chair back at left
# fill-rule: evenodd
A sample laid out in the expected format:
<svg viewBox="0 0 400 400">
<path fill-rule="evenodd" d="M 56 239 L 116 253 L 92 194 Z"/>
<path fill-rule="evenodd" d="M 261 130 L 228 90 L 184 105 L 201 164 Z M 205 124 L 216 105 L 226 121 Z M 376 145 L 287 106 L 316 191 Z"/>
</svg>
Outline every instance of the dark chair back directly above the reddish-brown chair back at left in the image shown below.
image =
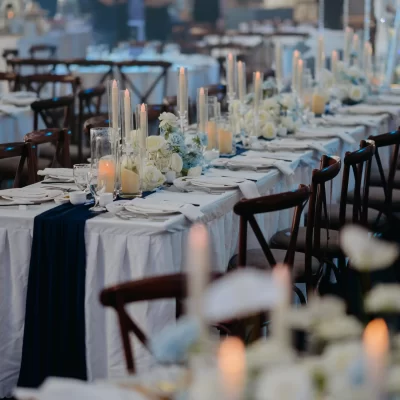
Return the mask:
<svg viewBox="0 0 400 400">
<path fill-rule="evenodd" d="M 33 111 L 33 129 L 39 129 L 39 117 L 47 129 L 74 127 L 74 96 L 55 97 L 48 100 L 38 100 L 31 104 Z"/>
</svg>

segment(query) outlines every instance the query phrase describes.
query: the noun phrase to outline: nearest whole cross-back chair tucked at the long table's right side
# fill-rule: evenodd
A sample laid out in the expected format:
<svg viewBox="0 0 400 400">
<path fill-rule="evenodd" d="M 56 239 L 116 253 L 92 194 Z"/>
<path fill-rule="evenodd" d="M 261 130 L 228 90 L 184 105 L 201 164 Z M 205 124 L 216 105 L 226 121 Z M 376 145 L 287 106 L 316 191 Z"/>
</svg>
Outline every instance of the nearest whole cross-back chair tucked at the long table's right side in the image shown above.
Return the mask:
<svg viewBox="0 0 400 400">
<path fill-rule="evenodd" d="M 236 203 L 233 211 L 240 216 L 239 253 L 229 261 L 229 268 L 232 269 L 250 265 L 252 267 L 268 270 L 274 268 L 277 263 L 285 263 L 292 268 L 293 278 L 296 283 L 306 283 L 306 279 L 309 279 L 311 283 L 311 274 L 308 273 L 308 270 L 313 271 L 315 274 L 319 267 L 318 260 L 310 258 L 309 263 L 305 264 L 304 254 L 296 254 L 300 218 L 309 197 L 310 188 L 305 185 L 300 185 L 298 190 L 292 192 L 241 200 L 239 203 Z M 294 208 L 294 216 L 292 227 L 288 230 L 289 246 L 286 251 L 271 250 L 256 221 L 255 215 L 291 208 Z M 261 249 L 247 250 L 248 224 L 250 224 Z M 305 303 L 306 301 L 303 293 L 295 286 L 293 289 L 299 296 L 301 302 Z"/>
</svg>

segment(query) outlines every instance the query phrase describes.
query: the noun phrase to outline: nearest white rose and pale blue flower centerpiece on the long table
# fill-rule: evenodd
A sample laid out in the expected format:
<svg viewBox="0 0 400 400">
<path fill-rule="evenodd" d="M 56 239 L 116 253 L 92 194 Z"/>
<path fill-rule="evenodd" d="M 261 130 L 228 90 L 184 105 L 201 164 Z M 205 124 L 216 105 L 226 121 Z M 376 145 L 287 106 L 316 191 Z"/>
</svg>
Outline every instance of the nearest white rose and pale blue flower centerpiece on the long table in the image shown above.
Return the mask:
<svg viewBox="0 0 400 400">
<path fill-rule="evenodd" d="M 191 138 L 179 130 L 178 118 L 162 113 L 160 136 L 147 138 L 147 162 L 144 172 L 146 190 L 152 190 L 167 180 L 167 176 L 197 176 L 202 172 L 204 138 Z"/>
</svg>

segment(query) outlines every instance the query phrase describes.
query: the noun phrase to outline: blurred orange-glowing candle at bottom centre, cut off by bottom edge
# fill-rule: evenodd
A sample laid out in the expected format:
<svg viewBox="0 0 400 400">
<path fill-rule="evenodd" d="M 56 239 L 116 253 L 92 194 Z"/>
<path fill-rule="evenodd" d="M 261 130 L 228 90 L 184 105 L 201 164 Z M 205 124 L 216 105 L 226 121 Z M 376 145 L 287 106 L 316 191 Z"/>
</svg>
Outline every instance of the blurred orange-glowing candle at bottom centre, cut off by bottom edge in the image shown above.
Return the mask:
<svg viewBox="0 0 400 400">
<path fill-rule="evenodd" d="M 243 342 L 228 337 L 220 345 L 218 368 L 224 400 L 240 400 L 246 383 L 246 354 Z"/>
</svg>

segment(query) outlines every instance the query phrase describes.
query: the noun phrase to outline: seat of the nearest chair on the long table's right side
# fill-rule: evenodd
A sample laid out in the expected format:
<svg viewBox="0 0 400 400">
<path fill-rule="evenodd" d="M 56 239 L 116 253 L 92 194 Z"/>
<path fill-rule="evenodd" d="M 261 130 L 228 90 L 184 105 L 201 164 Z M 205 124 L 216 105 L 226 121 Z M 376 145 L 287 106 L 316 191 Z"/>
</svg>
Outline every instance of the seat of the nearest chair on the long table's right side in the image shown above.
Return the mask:
<svg viewBox="0 0 400 400">
<path fill-rule="evenodd" d="M 286 250 L 278 250 L 272 249 L 272 254 L 276 262 L 283 263 L 286 256 Z M 264 252 L 261 249 L 253 249 L 248 250 L 246 253 L 247 262 L 246 264 L 251 267 L 256 267 L 260 269 L 270 269 L 271 266 L 269 265 L 267 259 L 265 258 Z M 229 267 L 235 268 L 238 266 L 238 255 L 235 255 L 229 261 Z M 311 261 L 311 269 L 313 275 L 318 272 L 319 269 L 319 261 L 312 257 Z M 304 260 L 304 253 L 296 253 L 294 257 L 294 265 L 293 265 L 293 275 L 296 282 L 304 282 L 304 272 L 305 272 L 305 260 Z"/>
</svg>

